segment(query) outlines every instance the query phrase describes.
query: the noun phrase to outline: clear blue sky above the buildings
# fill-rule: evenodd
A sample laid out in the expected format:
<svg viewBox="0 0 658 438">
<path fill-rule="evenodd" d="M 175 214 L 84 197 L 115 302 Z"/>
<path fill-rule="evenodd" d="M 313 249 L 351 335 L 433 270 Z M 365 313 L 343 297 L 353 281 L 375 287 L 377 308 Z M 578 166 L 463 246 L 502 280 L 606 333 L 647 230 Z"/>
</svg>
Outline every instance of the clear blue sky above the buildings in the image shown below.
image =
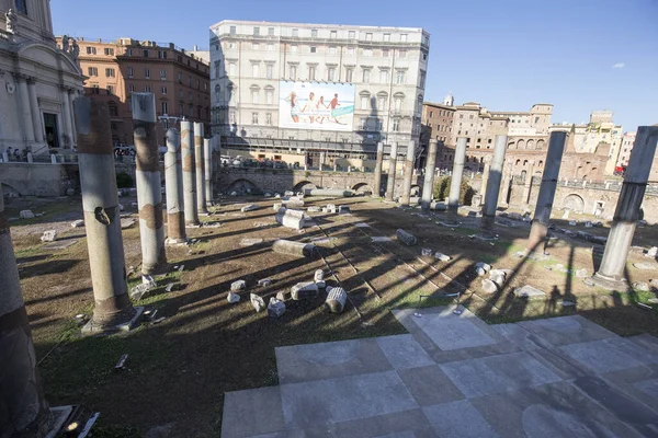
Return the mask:
<svg viewBox="0 0 658 438">
<path fill-rule="evenodd" d="M 554 123 L 613 110 L 624 130 L 658 123 L 658 0 L 52 1 L 56 34 L 208 46 L 222 20 L 423 27 L 426 100 L 497 111 L 553 103 Z"/>
</svg>

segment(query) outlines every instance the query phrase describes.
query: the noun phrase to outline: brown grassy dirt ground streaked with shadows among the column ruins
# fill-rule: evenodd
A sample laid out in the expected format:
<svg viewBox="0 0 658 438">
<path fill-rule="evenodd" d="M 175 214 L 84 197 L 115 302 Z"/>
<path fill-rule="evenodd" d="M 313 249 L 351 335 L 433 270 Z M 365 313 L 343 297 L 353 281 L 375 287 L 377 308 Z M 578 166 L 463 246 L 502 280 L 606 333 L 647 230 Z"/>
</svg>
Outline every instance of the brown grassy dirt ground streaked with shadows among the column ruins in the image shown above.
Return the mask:
<svg viewBox="0 0 658 438">
<path fill-rule="evenodd" d="M 320 215 L 316 219 L 319 227 L 297 233 L 274 222 L 271 201 L 246 201 L 263 208 L 242 214 L 241 205 L 224 204 L 207 218 L 222 222 L 220 228 L 189 230 L 189 237 L 196 239 L 192 246 L 168 249 L 169 265 L 156 278 L 158 289 L 135 303 L 157 309 L 158 316 L 166 320 L 110 337 L 80 337 L 72 319 L 77 313 L 90 313 L 93 306 L 84 230 L 68 226 L 81 218 L 79 199 L 63 199 L 61 205 L 48 201 L 48 208 L 34 209 L 44 211 L 43 217 L 11 222 L 39 371 L 52 405 L 81 403 L 100 411 L 98 436 L 137 437 L 155 427 L 169 430 L 172 437 L 218 436 L 225 392 L 277 383 L 275 347 L 405 333 L 389 310 L 416 307 L 421 296 L 429 297 L 421 300 L 421 307 L 428 307 L 452 302 L 444 296 L 461 292 L 462 303 L 489 323 L 578 313 L 621 335 L 658 335 L 656 311 L 635 306 L 656 297 L 655 291 L 611 293 L 589 288 L 575 276 L 580 268 L 591 274 L 600 263 L 595 249 L 586 242 L 553 240 L 548 249 L 552 258 L 535 262 L 514 256 L 524 247 L 529 232 L 522 222 L 498 227 L 500 239 L 483 242 L 470 238 L 478 224 L 476 218 L 463 218 L 463 227 L 453 230 L 436 223 L 441 215 L 422 217 L 417 210 L 355 198 L 345 201 L 351 205 L 351 216 Z M 11 211 L 23 208 L 12 203 L 8 205 Z M 38 205 L 39 200 L 32 203 Z M 124 204 L 129 205 L 131 199 Z M 321 205 L 322 200 L 307 204 Z M 354 227 L 356 222 L 370 228 Z M 559 219 L 555 222 L 568 227 Z M 46 250 L 38 235 L 48 227 L 59 227 L 59 239 L 76 243 L 65 250 Z M 419 244 L 398 244 L 398 228 L 417 235 Z M 588 229 L 603 235 L 606 231 Z M 372 243 L 374 235 L 393 242 Z M 126 266 L 138 273 L 138 229 L 124 230 L 123 238 Z M 241 246 L 243 238 L 264 242 Z M 273 253 L 268 243 L 277 238 L 325 239 L 318 246 L 334 274 L 327 275 L 328 284 L 340 281 L 350 291 L 351 302 L 343 313 L 327 312 L 321 295 L 288 301 L 286 313 L 277 320 L 253 311 L 250 292 L 268 301 L 277 291 L 311 280 L 318 268 L 329 272 L 320 257 Z M 636 242 L 650 246 L 658 242 L 658 234 L 653 227 L 640 227 Z M 441 251 L 452 260 L 443 263 L 422 257 L 421 247 Z M 473 268 L 480 261 L 514 270 L 500 292 L 483 292 L 481 279 Z M 633 268 L 632 263 L 639 261 L 649 260 L 632 252 L 629 284 L 658 275 Z M 181 264 L 182 272 L 173 269 Z M 571 273 L 560 273 L 556 264 Z M 261 278 L 271 278 L 272 285 L 257 287 Z M 226 296 L 237 279 L 245 279 L 248 289 L 240 293 L 239 303 L 229 304 Z M 136 274 L 129 276 L 131 286 L 139 280 Z M 169 283 L 174 287 L 167 292 Z M 513 288 L 523 285 L 545 290 L 546 299 L 513 298 Z M 563 300 L 576 306 L 563 307 Z M 128 354 L 127 368 L 115 371 L 123 354 Z"/>
</svg>

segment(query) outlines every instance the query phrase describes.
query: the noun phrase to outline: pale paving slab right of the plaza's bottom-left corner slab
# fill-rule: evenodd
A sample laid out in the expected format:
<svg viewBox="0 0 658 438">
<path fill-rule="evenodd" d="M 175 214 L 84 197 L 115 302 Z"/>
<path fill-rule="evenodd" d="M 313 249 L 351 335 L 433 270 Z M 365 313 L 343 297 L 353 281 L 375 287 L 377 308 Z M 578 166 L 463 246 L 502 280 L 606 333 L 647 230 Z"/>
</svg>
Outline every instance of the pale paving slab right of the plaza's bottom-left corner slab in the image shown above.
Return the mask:
<svg viewBox="0 0 658 438">
<path fill-rule="evenodd" d="M 317 427 L 418 408 L 395 371 L 281 385 L 286 427 Z"/>
</svg>

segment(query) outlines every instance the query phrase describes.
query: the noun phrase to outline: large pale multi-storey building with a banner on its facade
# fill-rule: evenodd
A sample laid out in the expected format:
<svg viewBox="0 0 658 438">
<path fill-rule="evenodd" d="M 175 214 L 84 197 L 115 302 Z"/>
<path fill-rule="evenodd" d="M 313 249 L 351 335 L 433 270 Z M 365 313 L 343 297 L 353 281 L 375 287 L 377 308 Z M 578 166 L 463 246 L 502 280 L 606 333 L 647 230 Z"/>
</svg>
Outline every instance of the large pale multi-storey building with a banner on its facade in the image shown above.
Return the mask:
<svg viewBox="0 0 658 438">
<path fill-rule="evenodd" d="M 404 150 L 420 137 L 429 48 L 422 28 L 222 21 L 213 132 L 248 147 Z"/>
</svg>

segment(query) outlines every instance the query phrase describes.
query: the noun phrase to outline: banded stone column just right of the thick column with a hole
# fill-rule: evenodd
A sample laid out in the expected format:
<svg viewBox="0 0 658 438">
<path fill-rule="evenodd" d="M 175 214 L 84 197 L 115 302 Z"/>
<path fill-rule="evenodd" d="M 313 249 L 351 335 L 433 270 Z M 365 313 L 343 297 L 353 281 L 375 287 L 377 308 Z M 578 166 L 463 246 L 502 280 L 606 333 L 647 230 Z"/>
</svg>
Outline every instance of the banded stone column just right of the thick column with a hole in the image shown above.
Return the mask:
<svg viewBox="0 0 658 438">
<path fill-rule="evenodd" d="M 135 182 L 139 207 L 141 274 L 150 275 L 167 263 L 160 163 L 156 139 L 156 96 L 152 93 L 133 93 L 131 106 L 135 137 Z"/>
</svg>

